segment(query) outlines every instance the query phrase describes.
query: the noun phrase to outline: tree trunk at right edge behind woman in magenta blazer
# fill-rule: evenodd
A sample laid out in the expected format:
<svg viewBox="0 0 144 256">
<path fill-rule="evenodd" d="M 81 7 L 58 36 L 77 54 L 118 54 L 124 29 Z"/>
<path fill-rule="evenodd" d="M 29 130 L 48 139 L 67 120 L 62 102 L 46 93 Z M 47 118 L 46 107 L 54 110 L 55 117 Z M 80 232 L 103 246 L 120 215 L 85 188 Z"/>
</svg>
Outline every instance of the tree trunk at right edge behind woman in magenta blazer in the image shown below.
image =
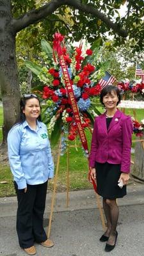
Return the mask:
<svg viewBox="0 0 144 256">
<path fill-rule="evenodd" d="M 141 142 L 136 142 L 132 175 L 140 180 L 144 180 L 144 145 Z"/>
</svg>

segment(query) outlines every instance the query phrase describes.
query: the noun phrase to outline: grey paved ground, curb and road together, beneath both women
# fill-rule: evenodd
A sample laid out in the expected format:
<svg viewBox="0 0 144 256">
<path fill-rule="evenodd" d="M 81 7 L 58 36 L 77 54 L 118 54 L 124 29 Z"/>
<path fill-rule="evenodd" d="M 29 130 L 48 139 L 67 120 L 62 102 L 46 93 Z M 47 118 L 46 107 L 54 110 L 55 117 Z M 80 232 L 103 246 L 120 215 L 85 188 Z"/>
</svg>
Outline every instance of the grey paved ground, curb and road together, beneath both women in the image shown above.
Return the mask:
<svg viewBox="0 0 144 256">
<path fill-rule="evenodd" d="M 144 186 L 132 181 L 127 196 L 118 199 L 118 241 L 111 255 L 143 256 Z M 44 227 L 47 232 L 52 193 L 47 194 Z M 53 248 L 36 244 L 37 256 L 103 256 L 105 243 L 102 235 L 99 209 L 93 189 L 71 191 L 70 205 L 66 207 L 66 193 L 57 193 L 52 218 Z M 15 231 L 17 198 L 0 198 L 0 256 L 26 256 L 19 248 Z"/>
</svg>

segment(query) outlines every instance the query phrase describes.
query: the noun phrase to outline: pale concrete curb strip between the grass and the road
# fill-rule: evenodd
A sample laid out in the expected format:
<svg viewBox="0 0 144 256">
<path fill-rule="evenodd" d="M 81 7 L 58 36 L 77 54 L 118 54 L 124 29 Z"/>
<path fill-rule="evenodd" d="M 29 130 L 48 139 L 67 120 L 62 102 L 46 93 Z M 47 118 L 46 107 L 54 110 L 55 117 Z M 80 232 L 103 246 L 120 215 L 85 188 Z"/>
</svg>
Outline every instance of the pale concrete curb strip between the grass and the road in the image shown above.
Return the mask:
<svg viewBox="0 0 144 256">
<path fill-rule="evenodd" d="M 52 192 L 47 193 L 45 213 L 51 211 L 51 198 Z M 70 191 L 69 207 L 66 207 L 66 200 L 66 192 L 56 193 L 54 212 L 97 208 L 95 191 L 93 189 Z M 137 204 L 144 204 L 144 183 L 141 184 L 131 180 L 131 183 L 127 186 L 127 196 L 124 198 L 119 198 L 118 205 L 122 206 Z M 17 212 L 16 196 L 0 198 L 0 209 L 0 217 L 15 216 Z"/>
</svg>

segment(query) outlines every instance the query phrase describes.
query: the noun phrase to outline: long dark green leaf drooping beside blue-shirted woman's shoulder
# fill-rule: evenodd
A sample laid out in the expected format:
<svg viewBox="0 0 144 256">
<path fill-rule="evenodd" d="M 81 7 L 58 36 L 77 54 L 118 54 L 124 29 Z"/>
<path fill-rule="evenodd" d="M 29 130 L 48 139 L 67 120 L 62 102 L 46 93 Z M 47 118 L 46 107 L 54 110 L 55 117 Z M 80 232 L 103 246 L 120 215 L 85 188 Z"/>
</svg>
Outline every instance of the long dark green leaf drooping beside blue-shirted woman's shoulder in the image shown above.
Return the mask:
<svg viewBox="0 0 144 256">
<path fill-rule="evenodd" d="M 51 145 L 52 146 L 55 146 L 58 143 L 58 140 L 60 138 L 61 123 L 62 123 L 62 119 L 61 119 L 61 115 L 60 115 L 60 117 L 56 120 L 56 123 L 54 125 L 54 129 L 51 133 Z"/>
</svg>

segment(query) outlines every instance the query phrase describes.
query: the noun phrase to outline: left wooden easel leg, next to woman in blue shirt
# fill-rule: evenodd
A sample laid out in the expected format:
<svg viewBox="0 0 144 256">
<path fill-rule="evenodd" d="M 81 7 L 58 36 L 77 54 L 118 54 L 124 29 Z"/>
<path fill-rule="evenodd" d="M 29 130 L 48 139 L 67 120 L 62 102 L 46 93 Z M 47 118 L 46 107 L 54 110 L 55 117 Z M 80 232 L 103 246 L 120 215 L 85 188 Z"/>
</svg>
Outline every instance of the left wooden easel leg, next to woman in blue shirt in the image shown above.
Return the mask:
<svg viewBox="0 0 144 256">
<path fill-rule="evenodd" d="M 49 238 L 50 236 L 50 232 L 51 232 L 51 221 L 52 221 L 52 214 L 53 214 L 53 210 L 54 210 L 54 199 L 55 199 L 55 195 L 56 195 L 56 184 L 57 184 L 57 180 L 58 180 L 58 171 L 59 171 L 59 167 L 60 167 L 60 154 L 61 154 L 61 137 L 60 137 L 60 144 L 58 147 L 58 159 L 57 159 L 57 164 L 56 164 L 56 174 L 54 177 L 54 189 L 53 189 L 53 193 L 52 193 L 52 202 L 51 202 L 51 214 L 49 217 L 49 226 L 48 226 L 48 230 L 47 230 L 47 238 Z"/>
</svg>

